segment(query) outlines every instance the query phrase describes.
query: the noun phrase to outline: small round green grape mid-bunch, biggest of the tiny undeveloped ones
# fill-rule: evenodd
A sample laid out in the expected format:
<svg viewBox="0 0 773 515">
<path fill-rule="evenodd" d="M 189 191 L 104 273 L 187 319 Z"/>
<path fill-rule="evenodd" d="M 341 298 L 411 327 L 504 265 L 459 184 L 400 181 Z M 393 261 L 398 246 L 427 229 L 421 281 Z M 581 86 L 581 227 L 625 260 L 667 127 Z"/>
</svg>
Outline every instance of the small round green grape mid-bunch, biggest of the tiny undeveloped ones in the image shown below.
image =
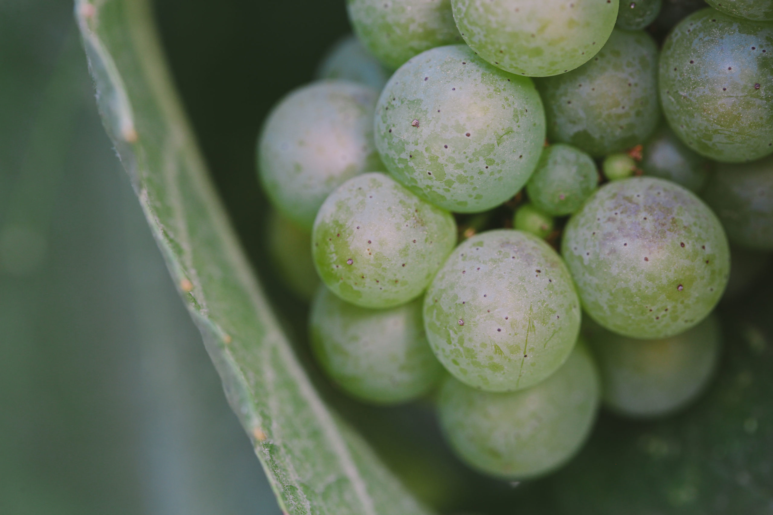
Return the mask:
<svg viewBox="0 0 773 515">
<path fill-rule="evenodd" d="M 542 151 L 526 192 L 543 212 L 563 216 L 577 211 L 597 185 L 598 170 L 591 156 L 558 143 Z"/>
</svg>

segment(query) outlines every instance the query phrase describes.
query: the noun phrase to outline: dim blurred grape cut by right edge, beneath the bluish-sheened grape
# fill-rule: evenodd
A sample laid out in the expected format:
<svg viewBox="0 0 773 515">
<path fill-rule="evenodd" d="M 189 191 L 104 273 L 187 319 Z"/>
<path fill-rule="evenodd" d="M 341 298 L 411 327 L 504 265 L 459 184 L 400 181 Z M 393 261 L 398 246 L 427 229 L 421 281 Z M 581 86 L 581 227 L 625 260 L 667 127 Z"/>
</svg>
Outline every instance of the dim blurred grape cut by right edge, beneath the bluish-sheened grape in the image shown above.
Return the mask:
<svg viewBox="0 0 773 515">
<path fill-rule="evenodd" d="M 718 164 L 703 198 L 731 242 L 773 250 L 773 156 L 746 164 Z"/>
</svg>

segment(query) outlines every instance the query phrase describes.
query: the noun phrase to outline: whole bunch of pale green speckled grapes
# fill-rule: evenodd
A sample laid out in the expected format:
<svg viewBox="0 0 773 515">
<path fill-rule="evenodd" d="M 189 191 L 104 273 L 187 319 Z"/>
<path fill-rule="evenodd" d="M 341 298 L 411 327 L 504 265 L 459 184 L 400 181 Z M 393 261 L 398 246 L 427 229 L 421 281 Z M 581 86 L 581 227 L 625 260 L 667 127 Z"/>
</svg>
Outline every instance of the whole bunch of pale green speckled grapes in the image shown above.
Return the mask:
<svg viewBox="0 0 773 515">
<path fill-rule="evenodd" d="M 773 0 L 709 4 L 347 0 L 356 37 L 257 147 L 335 385 L 431 398 L 511 480 L 567 462 L 600 404 L 700 394 L 728 239 L 773 250 Z"/>
</svg>

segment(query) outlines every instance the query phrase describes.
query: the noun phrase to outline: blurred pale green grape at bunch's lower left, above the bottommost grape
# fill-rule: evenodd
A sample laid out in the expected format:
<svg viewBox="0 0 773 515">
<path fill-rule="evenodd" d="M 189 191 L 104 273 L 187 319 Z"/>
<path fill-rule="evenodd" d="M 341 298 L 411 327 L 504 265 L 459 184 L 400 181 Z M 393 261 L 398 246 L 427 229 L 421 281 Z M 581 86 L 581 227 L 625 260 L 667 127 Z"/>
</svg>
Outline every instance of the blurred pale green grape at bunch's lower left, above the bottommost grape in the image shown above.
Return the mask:
<svg viewBox="0 0 773 515">
<path fill-rule="evenodd" d="M 421 299 L 372 310 L 346 303 L 322 286 L 312 303 L 309 330 L 325 374 L 363 401 L 413 400 L 443 374 L 424 335 Z"/>
</svg>

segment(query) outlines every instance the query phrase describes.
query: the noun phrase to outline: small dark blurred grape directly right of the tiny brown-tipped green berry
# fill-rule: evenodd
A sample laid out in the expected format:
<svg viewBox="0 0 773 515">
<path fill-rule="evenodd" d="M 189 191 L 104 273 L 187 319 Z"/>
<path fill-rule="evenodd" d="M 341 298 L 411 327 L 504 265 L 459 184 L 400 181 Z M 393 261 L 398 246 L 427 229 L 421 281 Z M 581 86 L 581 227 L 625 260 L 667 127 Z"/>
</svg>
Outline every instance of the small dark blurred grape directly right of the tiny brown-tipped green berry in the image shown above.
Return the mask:
<svg viewBox="0 0 773 515">
<path fill-rule="evenodd" d="M 706 185 L 711 161 L 691 151 L 663 125 L 644 145 L 641 167 L 645 175 L 668 179 L 698 193 Z"/>
</svg>

